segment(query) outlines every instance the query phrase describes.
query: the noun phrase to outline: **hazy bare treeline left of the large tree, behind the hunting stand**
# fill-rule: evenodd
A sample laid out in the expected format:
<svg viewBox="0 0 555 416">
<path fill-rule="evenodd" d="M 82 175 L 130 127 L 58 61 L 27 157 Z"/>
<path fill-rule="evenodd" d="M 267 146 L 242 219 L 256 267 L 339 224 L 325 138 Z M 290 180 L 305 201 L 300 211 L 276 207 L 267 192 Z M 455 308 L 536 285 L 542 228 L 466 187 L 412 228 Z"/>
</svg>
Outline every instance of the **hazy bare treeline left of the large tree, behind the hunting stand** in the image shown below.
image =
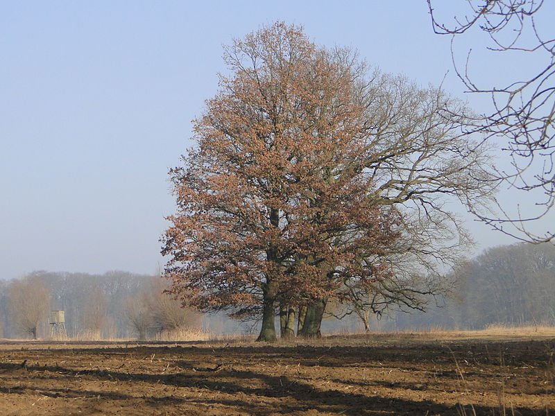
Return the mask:
<svg viewBox="0 0 555 416">
<path fill-rule="evenodd" d="M 72 338 L 146 338 L 162 331 L 200 327 L 198 314 L 164 293 L 160 277 L 108 272 L 88 275 L 33 272 L 0 281 L 0 338 L 48 338 L 49 312 L 65 311 Z M 148 322 L 144 331 L 135 311 Z"/>
</svg>

